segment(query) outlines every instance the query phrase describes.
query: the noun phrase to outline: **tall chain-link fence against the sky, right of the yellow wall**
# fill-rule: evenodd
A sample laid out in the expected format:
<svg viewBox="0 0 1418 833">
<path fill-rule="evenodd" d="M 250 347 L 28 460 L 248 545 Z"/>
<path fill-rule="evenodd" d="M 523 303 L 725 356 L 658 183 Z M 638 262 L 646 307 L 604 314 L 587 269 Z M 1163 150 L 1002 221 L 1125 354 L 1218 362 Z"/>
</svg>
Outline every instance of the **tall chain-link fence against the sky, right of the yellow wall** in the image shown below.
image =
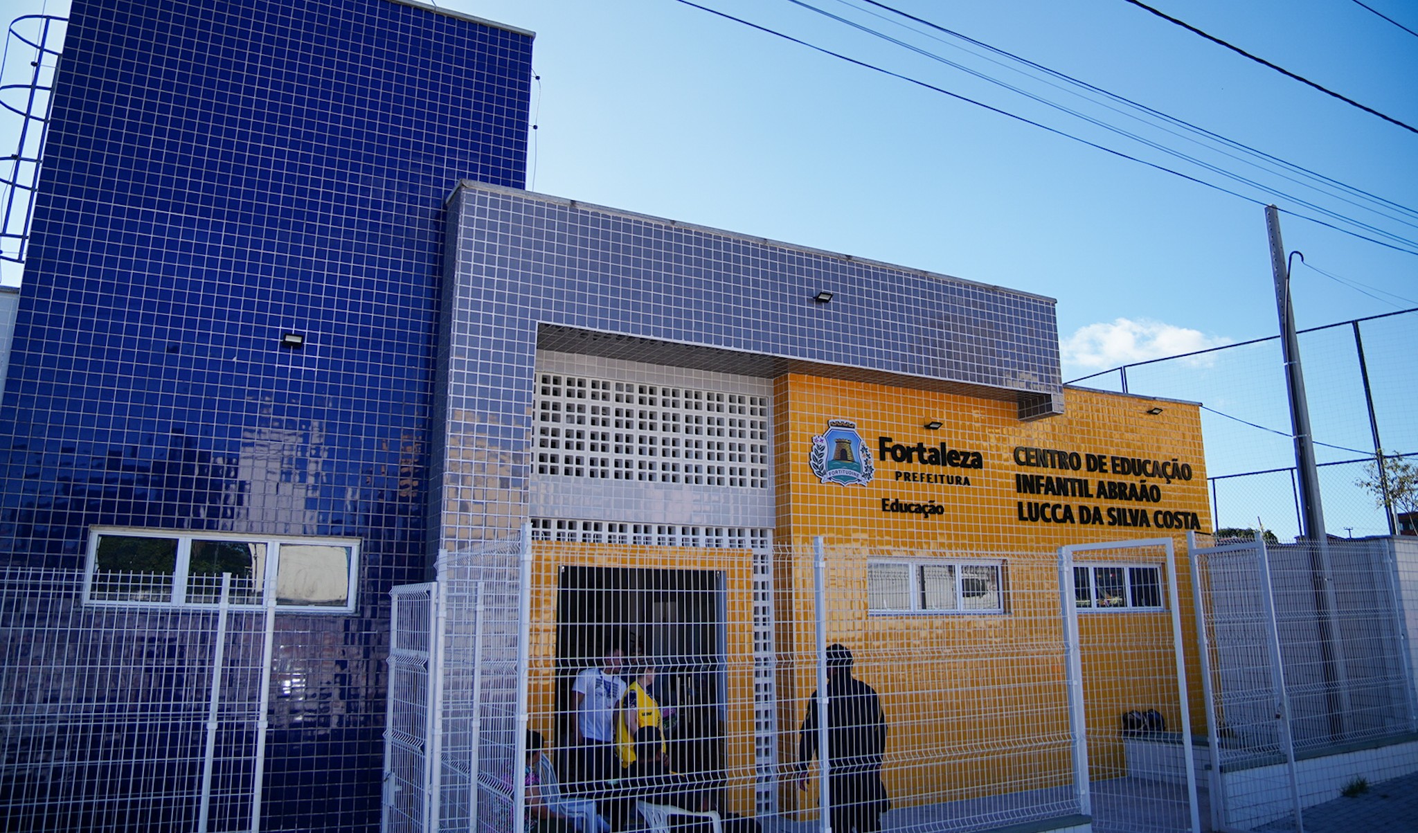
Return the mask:
<svg viewBox="0 0 1418 833">
<path fill-rule="evenodd" d="M 1299 333 L 1330 535 L 1398 531 L 1395 515 L 1402 507 L 1383 507 L 1374 460 L 1383 450 L 1388 460 L 1418 461 L 1415 325 L 1418 309 L 1405 309 Z M 1259 526 L 1283 541 L 1299 535 L 1279 336 L 1126 365 L 1075 383 L 1200 402 L 1215 528 Z"/>
</svg>

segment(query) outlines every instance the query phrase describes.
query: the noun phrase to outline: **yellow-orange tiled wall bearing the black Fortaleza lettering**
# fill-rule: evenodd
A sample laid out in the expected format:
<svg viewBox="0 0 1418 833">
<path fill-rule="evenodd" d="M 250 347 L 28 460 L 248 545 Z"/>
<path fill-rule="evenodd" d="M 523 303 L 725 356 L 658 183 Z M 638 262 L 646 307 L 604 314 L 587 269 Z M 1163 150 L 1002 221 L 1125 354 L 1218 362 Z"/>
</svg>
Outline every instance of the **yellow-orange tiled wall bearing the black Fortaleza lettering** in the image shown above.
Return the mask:
<svg viewBox="0 0 1418 833">
<path fill-rule="evenodd" d="M 1051 786 L 1066 776 L 1068 761 L 1051 755 L 1038 759 L 1028 749 L 1028 735 L 1066 727 L 1061 690 L 1049 685 L 1020 684 L 1061 680 L 1062 668 L 1045 658 L 1020 656 L 1018 646 L 1035 640 L 1054 640 L 1059 602 L 1058 572 L 1054 552 L 1066 544 L 1127 541 L 1171 536 L 1176 539 L 1180 610 L 1185 644 L 1194 644 L 1190 576 L 1185 569 L 1185 532 L 1159 528 L 1174 522 L 1210 531 L 1207 480 L 1201 446 L 1200 412 L 1194 404 L 1159 402 L 1133 396 L 1068 389 L 1064 416 L 1021 423 L 1014 402 L 995 402 L 959 395 L 932 393 L 903 387 L 862 385 L 810 376 L 778 379 L 776 407 L 780 417 L 776 443 L 776 492 L 778 502 L 778 539 L 795 549 L 811 548 L 814 536 L 825 539 L 832 587 L 845 603 L 832 605 L 834 620 L 828 639 L 848 634 L 862 644 L 851 646 L 866 657 L 858 663 L 858 675 L 881 691 L 891 715 L 912 715 L 910 732 L 898 732 L 888 745 L 888 790 L 896 796 L 919 792 L 923 783 L 947 785 L 951 798 L 976 795 L 971 783 L 998 783 L 1000 773 L 983 772 L 987 766 L 1007 766 L 1028 773 L 1018 779 L 1021 789 Z M 1161 413 L 1147 410 L 1161 407 Z M 813 438 L 828 429 L 828 420 L 851 420 L 866 447 L 873 453 L 875 473 L 869 484 L 824 484 L 810 468 Z M 937 430 L 923 426 L 940 421 Z M 891 454 L 881 458 L 881 437 L 891 444 L 927 447 L 944 443 L 949 448 L 978 451 L 980 468 L 951 468 L 898 463 Z M 1017 448 L 1018 451 L 1017 456 Z M 1048 454 L 1028 451 L 1078 453 L 1082 471 L 1025 465 Z M 1103 473 L 1089 473 L 1088 457 L 1102 461 Z M 1113 457 L 1146 458 L 1187 464 L 1190 480 L 1139 478 L 1113 474 Z M 1062 475 L 1083 478 L 1089 498 L 1020 494 L 1015 475 Z M 942 477 L 944 475 L 944 477 Z M 1157 485 L 1160 501 L 1139 502 L 1099 498 L 1098 481 Z M 1065 488 L 1079 487 L 1064 484 Z M 883 511 L 883 501 L 942 507 L 940 514 L 919 515 Z M 1031 521 L 1029 502 L 1049 504 L 1042 512 L 1049 521 Z M 1055 507 L 1054 504 L 1058 504 Z M 1068 507 L 1068 511 L 1062 507 Z M 1098 509 L 1099 524 L 1082 522 L 1083 509 Z M 1132 521 L 1146 526 L 1109 525 L 1133 509 Z M 1115 514 L 1110 515 L 1109 512 Z M 1139 518 L 1139 511 L 1143 518 Z M 1163 512 L 1157 515 L 1156 512 Z M 1090 518 L 1095 517 L 1089 511 Z M 1064 522 L 1054 522 L 1058 518 Z M 1072 522 L 1068 522 L 1072 521 Z M 932 553 L 946 556 L 1003 558 L 1008 576 L 1010 610 L 1007 614 L 883 616 L 866 612 L 866 555 Z M 1161 561 L 1161 551 L 1149 559 Z M 881 555 L 878 555 L 881 558 Z M 1124 558 L 1124 561 L 1127 561 Z M 780 589 L 791 583 L 793 595 L 780 596 L 778 650 L 811 650 L 814 631 L 810 612 L 794 610 L 794 600 L 810 599 L 813 575 L 801 558 L 780 558 Z M 797 572 L 794 573 L 794 568 Z M 1170 605 L 1168 605 L 1170 607 Z M 1166 702 L 1166 691 L 1176 691 L 1171 658 L 1170 613 L 1092 613 L 1079 623 L 1085 667 L 1085 690 L 1095 776 L 1120 765 L 1116 741 L 1120 711 L 1147 708 Z M 849 641 L 844 640 L 844 641 Z M 995 644 L 1010 668 L 995 668 L 980 660 L 980 646 Z M 1129 646 L 1132 650 L 1119 650 Z M 865 650 L 862 650 L 865 649 Z M 988 650 L 988 649 L 983 649 Z M 881 657 L 872 661 L 872 656 Z M 1129 667 L 1139 656 L 1150 667 Z M 893 661 L 908 657 L 908 661 Z M 937 661 L 920 661 L 939 657 Z M 956 660 L 956 657 L 960 657 Z M 1003 663 L 1001 663 L 1003 664 Z M 1190 657 L 1190 695 L 1193 719 L 1202 719 L 1195 658 Z M 968 668 L 968 671 L 967 671 Z M 963 674 L 971 674 L 961 685 Z M 990 678 L 994 674 L 995 680 Z M 984 675 L 984 678 L 981 678 Z M 786 673 L 780 678 L 780 697 L 805 697 L 815 687 L 810 671 Z M 923 691 L 932 694 L 923 695 Z M 942 693 L 959 691 L 959 702 Z M 987 704 L 980 707 L 980 701 Z M 1173 695 L 1176 700 L 1176 695 Z M 939 719 L 920 719 L 937 714 Z M 960 712 L 971 719 L 959 719 Z M 1166 708 L 1163 708 L 1166 714 Z M 991 718 L 991 715 L 995 715 Z M 1022 719 L 1021 719 L 1022 715 Z M 1168 728 L 1180 725 L 1180 714 L 1166 714 Z M 784 732 L 797 728 L 801 715 L 780 714 Z M 994 725 L 991 725 L 994 724 Z M 1195 722 L 1200 729 L 1200 722 Z M 1017 744 L 1011 759 L 950 761 L 942 751 L 968 748 L 980 737 L 998 744 Z M 788 752 L 791 755 L 791 751 Z M 932 766 L 929 762 L 937 761 Z M 1011 780 L 1015 780 L 1011 778 Z M 1025 783 L 1027 782 L 1027 783 Z M 783 796 L 793 800 L 790 795 Z"/>
</svg>

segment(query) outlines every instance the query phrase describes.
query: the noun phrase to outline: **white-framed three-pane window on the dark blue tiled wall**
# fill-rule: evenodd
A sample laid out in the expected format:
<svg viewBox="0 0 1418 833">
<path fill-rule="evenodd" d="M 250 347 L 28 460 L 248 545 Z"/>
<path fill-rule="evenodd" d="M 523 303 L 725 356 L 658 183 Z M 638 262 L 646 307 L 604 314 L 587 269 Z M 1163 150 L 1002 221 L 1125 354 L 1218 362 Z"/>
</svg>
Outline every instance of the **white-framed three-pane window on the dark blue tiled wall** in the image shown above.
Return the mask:
<svg viewBox="0 0 1418 833">
<path fill-rule="evenodd" d="M 274 597 L 281 610 L 350 613 L 359 541 L 95 526 L 84 602 L 214 607 L 223 573 L 231 573 L 234 606 Z"/>
</svg>

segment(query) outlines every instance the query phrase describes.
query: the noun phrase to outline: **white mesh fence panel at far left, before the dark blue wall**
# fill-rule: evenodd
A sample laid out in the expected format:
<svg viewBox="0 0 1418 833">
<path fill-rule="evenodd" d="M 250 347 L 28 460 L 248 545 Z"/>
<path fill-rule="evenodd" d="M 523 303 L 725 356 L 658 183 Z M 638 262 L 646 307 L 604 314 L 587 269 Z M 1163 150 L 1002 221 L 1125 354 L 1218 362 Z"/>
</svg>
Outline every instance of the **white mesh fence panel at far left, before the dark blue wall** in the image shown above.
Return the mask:
<svg viewBox="0 0 1418 833">
<path fill-rule="evenodd" d="M 82 589 L 0 569 L 0 826 L 250 830 L 265 613 Z"/>
</svg>

